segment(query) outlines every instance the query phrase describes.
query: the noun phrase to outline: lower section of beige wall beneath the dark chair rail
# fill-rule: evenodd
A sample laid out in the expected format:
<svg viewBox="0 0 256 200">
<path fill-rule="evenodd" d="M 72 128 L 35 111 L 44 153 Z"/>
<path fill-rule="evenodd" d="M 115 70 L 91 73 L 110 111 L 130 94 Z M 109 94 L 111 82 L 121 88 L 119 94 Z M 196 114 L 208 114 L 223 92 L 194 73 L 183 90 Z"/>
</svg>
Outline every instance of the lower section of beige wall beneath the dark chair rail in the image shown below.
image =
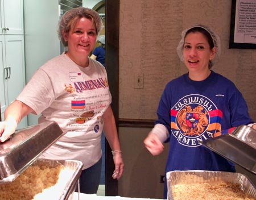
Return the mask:
<svg viewBox="0 0 256 200">
<path fill-rule="evenodd" d="M 118 181 L 118 195 L 121 197 L 163 198 L 163 183 L 168 144 L 159 156 L 152 156 L 144 148 L 143 140 L 148 128 L 119 128 L 122 156 L 125 170 Z"/>
</svg>

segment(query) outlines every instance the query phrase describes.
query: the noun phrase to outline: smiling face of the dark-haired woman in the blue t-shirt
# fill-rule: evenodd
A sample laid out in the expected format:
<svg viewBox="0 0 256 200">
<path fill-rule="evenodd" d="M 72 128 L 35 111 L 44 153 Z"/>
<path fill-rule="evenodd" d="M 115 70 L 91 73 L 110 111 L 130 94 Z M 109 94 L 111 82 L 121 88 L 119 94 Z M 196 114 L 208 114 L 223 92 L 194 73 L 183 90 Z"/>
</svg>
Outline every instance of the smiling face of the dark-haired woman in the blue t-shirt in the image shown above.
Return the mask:
<svg viewBox="0 0 256 200">
<path fill-rule="evenodd" d="M 201 32 L 190 32 L 185 36 L 183 56 L 189 72 L 207 72 L 215 52 L 216 48 L 210 49 L 206 36 Z"/>
</svg>

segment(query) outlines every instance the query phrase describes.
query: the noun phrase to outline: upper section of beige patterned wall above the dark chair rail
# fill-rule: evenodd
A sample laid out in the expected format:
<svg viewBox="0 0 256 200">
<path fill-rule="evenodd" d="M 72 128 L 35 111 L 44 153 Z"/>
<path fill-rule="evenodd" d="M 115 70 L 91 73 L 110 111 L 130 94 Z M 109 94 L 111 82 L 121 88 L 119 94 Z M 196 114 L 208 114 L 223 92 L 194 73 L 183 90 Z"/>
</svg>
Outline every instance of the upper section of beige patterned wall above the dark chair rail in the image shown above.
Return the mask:
<svg viewBox="0 0 256 200">
<path fill-rule="evenodd" d="M 196 23 L 221 37 L 213 70 L 232 80 L 256 120 L 256 50 L 229 49 L 231 0 L 120 0 L 119 118 L 155 119 L 168 81 L 187 72 L 176 54 L 181 31 Z M 144 74 L 143 89 L 134 76 Z"/>
</svg>

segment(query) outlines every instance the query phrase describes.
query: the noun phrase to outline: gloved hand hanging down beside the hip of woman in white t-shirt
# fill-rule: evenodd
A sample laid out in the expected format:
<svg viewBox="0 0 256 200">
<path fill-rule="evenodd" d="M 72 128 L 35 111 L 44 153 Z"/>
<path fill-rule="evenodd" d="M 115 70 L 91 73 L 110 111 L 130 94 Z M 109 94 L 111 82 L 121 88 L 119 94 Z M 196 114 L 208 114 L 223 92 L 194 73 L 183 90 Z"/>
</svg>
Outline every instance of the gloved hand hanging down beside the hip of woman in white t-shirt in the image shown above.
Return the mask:
<svg viewBox="0 0 256 200">
<path fill-rule="evenodd" d="M 119 180 L 123 174 L 123 159 L 122 159 L 122 152 L 121 151 L 112 151 L 113 153 L 113 160 L 115 164 L 115 170 L 112 175 L 114 179 Z"/>
</svg>

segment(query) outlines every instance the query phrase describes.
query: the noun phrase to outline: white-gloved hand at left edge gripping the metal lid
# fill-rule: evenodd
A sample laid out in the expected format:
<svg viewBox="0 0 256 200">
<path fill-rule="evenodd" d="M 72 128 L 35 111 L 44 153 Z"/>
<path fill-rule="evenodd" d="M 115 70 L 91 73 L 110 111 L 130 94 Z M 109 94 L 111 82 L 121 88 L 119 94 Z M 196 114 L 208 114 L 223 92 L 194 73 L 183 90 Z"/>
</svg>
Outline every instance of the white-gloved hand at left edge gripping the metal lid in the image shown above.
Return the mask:
<svg viewBox="0 0 256 200">
<path fill-rule="evenodd" d="M 8 118 L 4 122 L 0 122 L 0 141 L 4 142 L 14 134 L 17 128 L 17 122 L 14 118 Z"/>
</svg>

